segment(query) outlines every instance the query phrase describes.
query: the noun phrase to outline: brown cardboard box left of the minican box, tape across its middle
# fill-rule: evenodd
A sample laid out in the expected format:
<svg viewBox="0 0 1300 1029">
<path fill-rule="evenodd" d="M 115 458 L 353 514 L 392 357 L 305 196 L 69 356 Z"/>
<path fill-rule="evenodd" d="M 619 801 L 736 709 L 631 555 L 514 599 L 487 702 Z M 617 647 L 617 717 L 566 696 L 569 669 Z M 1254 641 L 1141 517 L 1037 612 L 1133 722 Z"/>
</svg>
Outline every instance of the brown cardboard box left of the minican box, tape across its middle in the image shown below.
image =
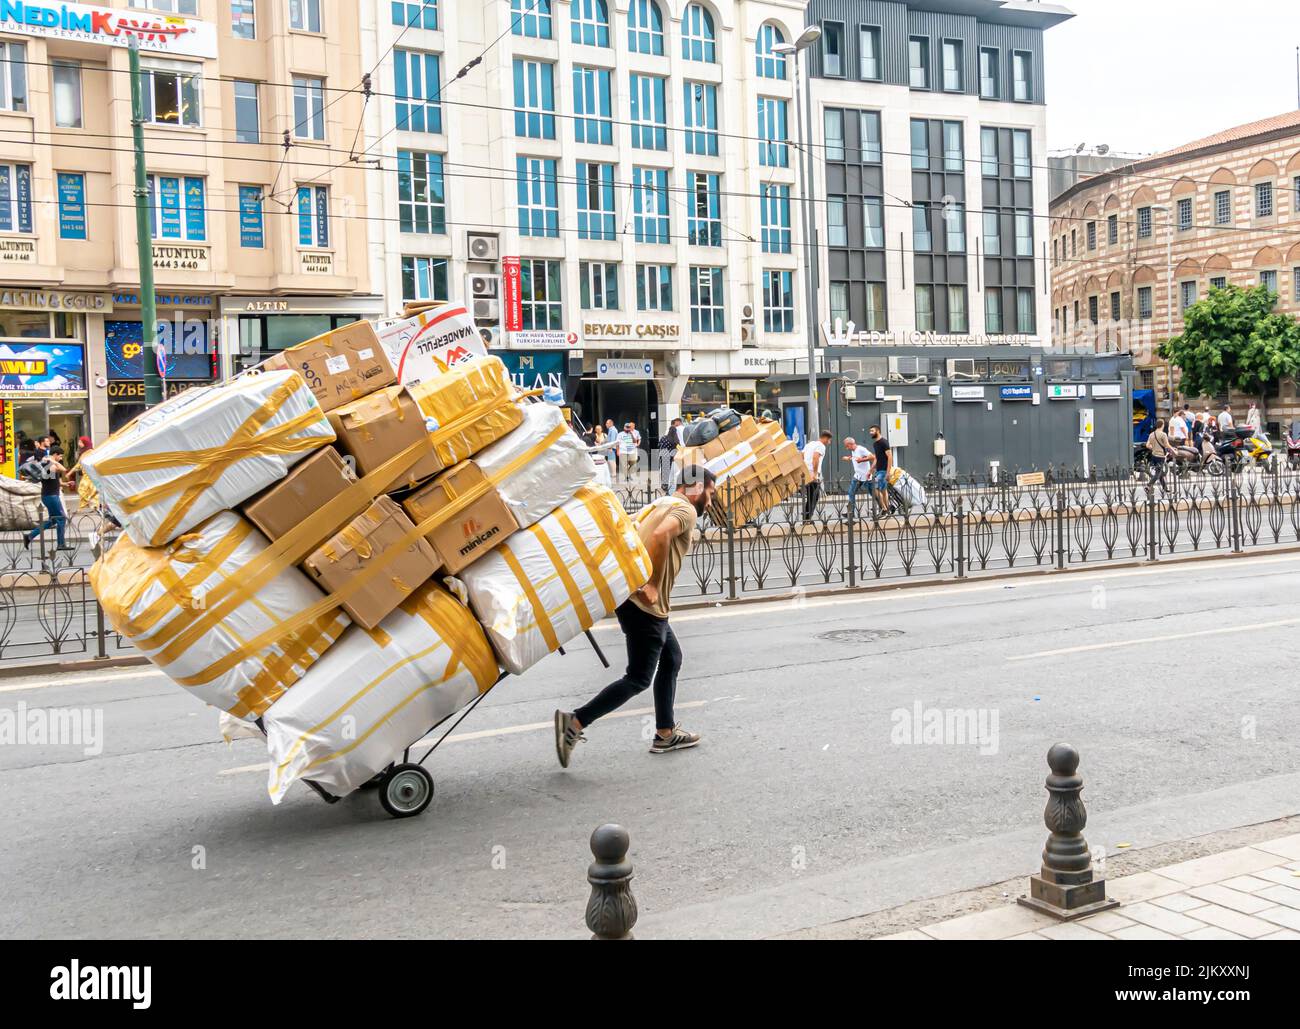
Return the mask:
<svg viewBox="0 0 1300 1029">
<path fill-rule="evenodd" d="M 391 551 L 413 527 L 395 500 L 381 496 L 317 547 L 303 563 L 303 570 L 325 592 L 334 592 L 370 568 L 381 553 Z M 437 570 L 433 547 L 416 539 L 343 602 L 343 611 L 361 628 L 373 629 Z"/>
</svg>

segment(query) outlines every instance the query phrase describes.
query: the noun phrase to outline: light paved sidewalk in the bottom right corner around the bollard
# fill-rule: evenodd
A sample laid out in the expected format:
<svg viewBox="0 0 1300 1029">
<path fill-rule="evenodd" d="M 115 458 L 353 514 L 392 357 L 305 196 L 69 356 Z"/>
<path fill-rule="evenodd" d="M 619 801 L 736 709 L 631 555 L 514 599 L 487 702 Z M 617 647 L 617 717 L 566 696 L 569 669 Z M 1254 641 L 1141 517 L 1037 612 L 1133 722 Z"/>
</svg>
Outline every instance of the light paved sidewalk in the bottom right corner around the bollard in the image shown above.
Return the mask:
<svg viewBox="0 0 1300 1029">
<path fill-rule="evenodd" d="M 1000 907 L 875 939 L 1300 939 L 1300 833 L 1106 883 L 1121 907 L 1058 922 Z"/>
</svg>

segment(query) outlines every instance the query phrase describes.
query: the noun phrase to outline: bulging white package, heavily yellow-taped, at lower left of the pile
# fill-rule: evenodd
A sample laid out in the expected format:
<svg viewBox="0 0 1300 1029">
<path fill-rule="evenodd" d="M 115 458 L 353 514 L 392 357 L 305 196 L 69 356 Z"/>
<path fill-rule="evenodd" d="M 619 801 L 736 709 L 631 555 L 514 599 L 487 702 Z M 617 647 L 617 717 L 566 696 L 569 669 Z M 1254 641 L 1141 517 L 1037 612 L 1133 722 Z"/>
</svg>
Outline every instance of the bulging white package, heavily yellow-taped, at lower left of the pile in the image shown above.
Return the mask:
<svg viewBox="0 0 1300 1029">
<path fill-rule="evenodd" d="M 165 547 L 130 537 L 90 569 L 108 622 L 195 696 L 239 718 L 256 718 L 334 643 L 348 625 L 337 607 L 295 628 L 324 594 L 286 568 L 250 595 L 238 583 L 266 550 L 266 538 L 222 512 Z M 238 603 L 221 615 L 218 592 Z M 269 642 L 251 646 L 259 638 Z"/>
</svg>

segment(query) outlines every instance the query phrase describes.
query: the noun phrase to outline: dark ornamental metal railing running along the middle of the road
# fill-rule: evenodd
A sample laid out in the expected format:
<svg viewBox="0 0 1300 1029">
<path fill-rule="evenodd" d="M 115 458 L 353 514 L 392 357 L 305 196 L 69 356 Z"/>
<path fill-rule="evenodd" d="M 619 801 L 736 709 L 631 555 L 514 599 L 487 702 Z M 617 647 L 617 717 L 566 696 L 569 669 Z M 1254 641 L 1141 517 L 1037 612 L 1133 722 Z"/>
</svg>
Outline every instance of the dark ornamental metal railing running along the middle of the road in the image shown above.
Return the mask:
<svg viewBox="0 0 1300 1029">
<path fill-rule="evenodd" d="M 1300 470 L 1282 465 L 1164 482 L 1126 469 L 1088 477 L 1057 469 L 1036 486 L 1017 486 L 1014 473 L 997 481 L 928 479 L 923 503 L 893 495 L 888 511 L 859 490 L 852 517 L 846 486 L 827 483 L 811 509 L 802 491 L 774 495 L 768 509 L 745 524 L 706 514 L 673 599 L 798 596 L 1300 543 Z M 649 478 L 615 482 L 614 490 L 630 512 L 663 494 Z M 101 531 L 100 518 L 83 512 L 69 517 L 72 552 L 55 550 L 53 530 L 30 550 L 21 534 L 0 537 L 0 664 L 133 651 L 105 625 L 90 589 L 90 564 L 114 540 L 96 535 Z"/>
</svg>

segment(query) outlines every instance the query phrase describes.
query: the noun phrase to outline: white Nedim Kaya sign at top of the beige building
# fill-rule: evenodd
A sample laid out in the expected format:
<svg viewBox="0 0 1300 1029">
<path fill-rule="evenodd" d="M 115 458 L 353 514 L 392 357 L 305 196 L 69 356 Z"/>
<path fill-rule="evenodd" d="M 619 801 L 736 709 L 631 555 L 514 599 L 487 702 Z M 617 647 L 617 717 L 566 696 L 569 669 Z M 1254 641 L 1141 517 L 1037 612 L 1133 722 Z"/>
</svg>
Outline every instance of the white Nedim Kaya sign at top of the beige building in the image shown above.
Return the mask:
<svg viewBox="0 0 1300 1029">
<path fill-rule="evenodd" d="M 217 56 L 217 27 L 209 22 L 90 4 L 0 0 L 0 32 L 101 43 L 107 47 L 127 47 L 134 38 L 139 40 L 140 49 L 155 53 Z"/>
</svg>

